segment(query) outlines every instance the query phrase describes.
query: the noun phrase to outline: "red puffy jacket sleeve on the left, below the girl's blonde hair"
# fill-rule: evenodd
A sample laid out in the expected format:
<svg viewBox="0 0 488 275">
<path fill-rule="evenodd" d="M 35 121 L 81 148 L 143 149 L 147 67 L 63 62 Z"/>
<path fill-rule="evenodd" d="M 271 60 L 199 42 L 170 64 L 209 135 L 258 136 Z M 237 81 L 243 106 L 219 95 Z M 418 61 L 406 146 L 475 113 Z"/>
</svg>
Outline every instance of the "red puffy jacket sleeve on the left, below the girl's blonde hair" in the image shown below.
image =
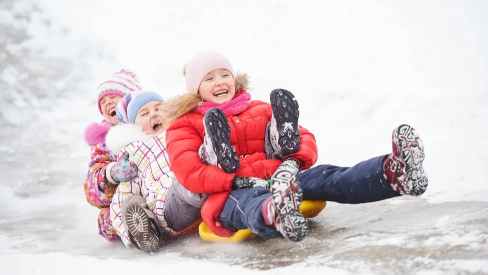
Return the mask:
<svg viewBox="0 0 488 275">
<path fill-rule="evenodd" d="M 166 143 L 171 169 L 186 189 L 201 194 L 232 190 L 234 174 L 204 164 L 198 156 L 203 140 L 186 116 L 168 128 Z"/>
</svg>

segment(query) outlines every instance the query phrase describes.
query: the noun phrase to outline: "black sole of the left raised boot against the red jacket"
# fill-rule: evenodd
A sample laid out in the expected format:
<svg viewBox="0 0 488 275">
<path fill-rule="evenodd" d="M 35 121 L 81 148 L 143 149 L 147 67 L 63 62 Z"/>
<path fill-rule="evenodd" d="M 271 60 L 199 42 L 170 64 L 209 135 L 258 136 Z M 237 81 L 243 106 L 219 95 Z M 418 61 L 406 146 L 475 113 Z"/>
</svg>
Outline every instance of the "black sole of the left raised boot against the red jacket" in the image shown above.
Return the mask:
<svg viewBox="0 0 488 275">
<path fill-rule="evenodd" d="M 212 141 L 217 163 L 226 173 L 234 173 L 240 167 L 239 156 L 231 146 L 231 127 L 224 112 L 212 108 L 205 114 L 205 133 Z"/>
</svg>

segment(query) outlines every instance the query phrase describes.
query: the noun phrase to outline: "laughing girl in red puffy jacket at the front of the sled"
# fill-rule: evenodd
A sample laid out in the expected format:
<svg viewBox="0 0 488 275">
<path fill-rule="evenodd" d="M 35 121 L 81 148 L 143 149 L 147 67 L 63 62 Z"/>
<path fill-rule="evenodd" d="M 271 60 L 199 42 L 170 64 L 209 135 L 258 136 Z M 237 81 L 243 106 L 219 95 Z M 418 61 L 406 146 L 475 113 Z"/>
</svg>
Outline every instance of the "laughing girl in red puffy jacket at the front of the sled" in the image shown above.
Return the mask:
<svg viewBox="0 0 488 275">
<path fill-rule="evenodd" d="M 315 137 L 298 125 L 299 106 L 289 91 L 273 90 L 271 104 L 251 101 L 246 78 L 213 51 L 197 53 L 184 75 L 187 94 L 166 106 L 168 155 L 186 189 L 213 193 L 201 213 L 217 235 L 250 228 L 262 237 L 300 241 L 308 232 L 303 199 L 365 203 L 418 196 L 427 187 L 423 146 L 408 125 L 394 130 L 389 154 L 353 167 L 310 168 L 317 160 Z M 268 190 L 261 186 L 269 178 Z"/>
</svg>

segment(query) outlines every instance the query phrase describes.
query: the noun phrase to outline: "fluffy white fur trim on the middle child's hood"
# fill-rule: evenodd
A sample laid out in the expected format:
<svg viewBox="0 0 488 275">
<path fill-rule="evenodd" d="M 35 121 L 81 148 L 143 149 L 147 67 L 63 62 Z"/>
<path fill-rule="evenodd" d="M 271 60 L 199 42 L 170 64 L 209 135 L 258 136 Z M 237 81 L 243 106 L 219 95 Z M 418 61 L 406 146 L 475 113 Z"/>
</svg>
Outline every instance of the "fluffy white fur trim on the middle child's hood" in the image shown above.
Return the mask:
<svg viewBox="0 0 488 275">
<path fill-rule="evenodd" d="M 126 145 L 150 138 L 151 136 L 144 133 L 139 125 L 124 123 L 110 128 L 105 138 L 105 144 L 114 155 L 118 155 L 120 149 Z"/>
</svg>

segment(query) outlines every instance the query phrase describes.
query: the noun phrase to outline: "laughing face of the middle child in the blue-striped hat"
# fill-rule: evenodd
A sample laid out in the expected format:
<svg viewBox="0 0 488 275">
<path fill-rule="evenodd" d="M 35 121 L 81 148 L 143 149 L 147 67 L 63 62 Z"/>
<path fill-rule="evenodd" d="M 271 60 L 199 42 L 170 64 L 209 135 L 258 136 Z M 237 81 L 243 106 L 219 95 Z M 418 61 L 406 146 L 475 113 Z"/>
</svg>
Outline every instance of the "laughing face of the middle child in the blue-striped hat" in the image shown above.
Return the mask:
<svg viewBox="0 0 488 275">
<path fill-rule="evenodd" d="M 149 101 L 144 104 L 137 112 L 134 124 L 141 126 L 146 134 L 163 132 L 163 118 L 160 115 L 162 104 L 161 101 Z"/>
</svg>

